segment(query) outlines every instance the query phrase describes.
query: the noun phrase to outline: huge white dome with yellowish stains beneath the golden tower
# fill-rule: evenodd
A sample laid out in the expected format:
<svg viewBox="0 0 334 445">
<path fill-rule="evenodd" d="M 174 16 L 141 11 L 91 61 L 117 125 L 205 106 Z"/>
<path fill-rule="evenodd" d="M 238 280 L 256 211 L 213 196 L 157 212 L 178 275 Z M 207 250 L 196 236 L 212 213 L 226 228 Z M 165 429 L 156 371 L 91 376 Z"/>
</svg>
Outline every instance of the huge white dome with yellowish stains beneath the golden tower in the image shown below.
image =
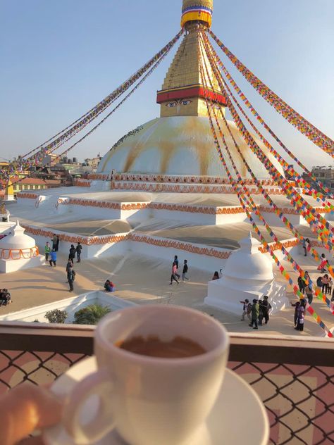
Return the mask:
<svg viewBox="0 0 334 445">
<path fill-rule="evenodd" d="M 240 175 L 250 179 L 228 128 L 223 120 L 220 120 L 220 124 Z M 235 123 L 228 121 L 228 127 L 254 175 L 260 180 L 271 179 L 264 165 L 242 139 Z M 254 139 L 280 174 L 284 175 L 282 167 L 266 146 L 259 139 Z M 225 152 L 220 137 L 218 141 Z M 227 155 L 225 162 L 233 177 L 236 177 Z M 216 151 L 209 118 L 199 116 L 157 118 L 126 134 L 106 153 L 97 173 L 109 175 L 113 169 L 119 173 L 228 177 Z"/>
</svg>

